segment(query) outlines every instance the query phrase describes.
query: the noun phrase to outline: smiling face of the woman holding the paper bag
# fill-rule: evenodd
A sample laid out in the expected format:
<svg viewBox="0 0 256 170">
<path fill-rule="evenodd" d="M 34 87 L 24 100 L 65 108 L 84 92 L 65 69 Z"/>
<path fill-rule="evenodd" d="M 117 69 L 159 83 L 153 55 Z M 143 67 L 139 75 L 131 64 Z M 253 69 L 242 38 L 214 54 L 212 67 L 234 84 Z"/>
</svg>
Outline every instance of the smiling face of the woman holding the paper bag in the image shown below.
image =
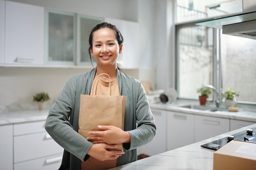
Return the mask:
<svg viewBox="0 0 256 170">
<path fill-rule="evenodd" d="M 95 58 L 97 66 L 116 65 L 122 46 L 123 44 L 118 45 L 114 30 L 103 28 L 94 31 L 90 53 Z"/>
</svg>

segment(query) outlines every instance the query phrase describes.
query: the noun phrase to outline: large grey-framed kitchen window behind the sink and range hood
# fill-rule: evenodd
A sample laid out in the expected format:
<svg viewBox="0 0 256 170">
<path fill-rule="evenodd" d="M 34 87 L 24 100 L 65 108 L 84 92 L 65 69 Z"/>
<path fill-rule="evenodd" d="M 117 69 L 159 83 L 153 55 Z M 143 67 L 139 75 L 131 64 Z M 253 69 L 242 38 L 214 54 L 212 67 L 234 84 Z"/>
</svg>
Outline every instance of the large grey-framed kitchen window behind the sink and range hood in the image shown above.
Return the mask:
<svg viewBox="0 0 256 170">
<path fill-rule="evenodd" d="M 189 4 L 192 2 L 193 5 Z M 178 97 L 198 99 L 197 89 L 202 85 L 210 84 L 220 92 L 225 88 L 238 91 L 239 103 L 256 104 L 256 40 L 224 35 L 222 30 L 195 25 L 198 20 L 202 19 L 200 13 L 203 10 L 196 8 L 198 2 L 207 6 L 207 2 L 210 1 L 177 0 L 177 16 L 179 17 L 177 17 L 175 29 Z M 237 10 L 236 5 L 241 1 L 230 0 L 230 2 L 235 2 L 232 5 Z M 220 4 L 223 9 L 224 5 Z M 214 11 L 223 11 L 217 6 Z M 191 7 L 197 9 L 193 11 L 192 19 Z M 180 13 L 179 8 L 184 9 L 183 13 Z M 207 12 L 204 18 L 209 15 Z M 188 20 L 189 22 L 184 22 Z M 213 93 L 209 99 L 213 100 L 215 97 Z"/>
</svg>

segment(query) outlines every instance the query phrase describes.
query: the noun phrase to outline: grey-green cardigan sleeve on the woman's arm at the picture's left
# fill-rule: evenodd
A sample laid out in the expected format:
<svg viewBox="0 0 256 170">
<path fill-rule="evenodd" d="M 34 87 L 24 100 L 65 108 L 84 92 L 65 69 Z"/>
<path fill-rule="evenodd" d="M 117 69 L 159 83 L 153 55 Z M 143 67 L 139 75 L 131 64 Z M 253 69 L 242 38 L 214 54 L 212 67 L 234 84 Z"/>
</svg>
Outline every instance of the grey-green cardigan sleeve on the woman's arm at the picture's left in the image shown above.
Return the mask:
<svg viewBox="0 0 256 170">
<path fill-rule="evenodd" d="M 77 102 L 80 103 L 80 101 L 76 101 L 76 81 L 77 79 L 72 77 L 65 83 L 49 110 L 45 129 L 60 146 L 84 161 L 93 144 L 76 132 L 69 122 L 74 107 L 77 107 L 75 105 Z"/>
</svg>

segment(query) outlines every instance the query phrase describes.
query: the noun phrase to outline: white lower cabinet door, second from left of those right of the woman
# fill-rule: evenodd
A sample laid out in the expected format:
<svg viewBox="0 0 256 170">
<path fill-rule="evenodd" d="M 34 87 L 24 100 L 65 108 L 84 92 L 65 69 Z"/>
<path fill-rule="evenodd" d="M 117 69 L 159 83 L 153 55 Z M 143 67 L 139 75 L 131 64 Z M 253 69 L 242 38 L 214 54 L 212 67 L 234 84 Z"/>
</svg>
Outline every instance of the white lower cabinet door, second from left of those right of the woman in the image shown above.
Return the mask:
<svg viewBox="0 0 256 170">
<path fill-rule="evenodd" d="M 167 150 L 194 143 L 194 115 L 167 112 Z"/>
</svg>

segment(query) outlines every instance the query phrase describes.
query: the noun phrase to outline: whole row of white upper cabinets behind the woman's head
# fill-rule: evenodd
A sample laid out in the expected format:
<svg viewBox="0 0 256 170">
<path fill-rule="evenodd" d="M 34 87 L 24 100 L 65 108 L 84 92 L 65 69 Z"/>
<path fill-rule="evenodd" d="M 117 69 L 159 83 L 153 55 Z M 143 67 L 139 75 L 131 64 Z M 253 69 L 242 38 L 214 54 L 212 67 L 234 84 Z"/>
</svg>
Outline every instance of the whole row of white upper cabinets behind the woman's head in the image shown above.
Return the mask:
<svg viewBox="0 0 256 170">
<path fill-rule="evenodd" d="M 110 22 L 124 37 L 120 68 L 139 68 L 139 23 L 0 0 L 0 65 L 96 66 L 90 58 L 94 26 Z"/>
</svg>

